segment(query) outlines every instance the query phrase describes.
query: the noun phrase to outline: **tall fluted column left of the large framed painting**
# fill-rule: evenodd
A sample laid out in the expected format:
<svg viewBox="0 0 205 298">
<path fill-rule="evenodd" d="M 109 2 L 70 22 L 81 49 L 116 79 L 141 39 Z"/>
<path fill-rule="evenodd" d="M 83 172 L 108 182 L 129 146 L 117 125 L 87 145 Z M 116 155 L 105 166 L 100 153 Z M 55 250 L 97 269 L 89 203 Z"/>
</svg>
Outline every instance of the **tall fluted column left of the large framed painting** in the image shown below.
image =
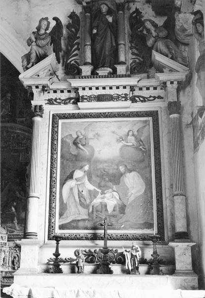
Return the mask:
<svg viewBox="0 0 205 298">
<path fill-rule="evenodd" d="M 42 105 L 35 105 L 32 107 L 32 110 L 34 112 L 34 117 L 32 119 L 32 145 L 24 238 L 36 239 L 38 237 L 41 121 L 44 108 Z"/>
</svg>

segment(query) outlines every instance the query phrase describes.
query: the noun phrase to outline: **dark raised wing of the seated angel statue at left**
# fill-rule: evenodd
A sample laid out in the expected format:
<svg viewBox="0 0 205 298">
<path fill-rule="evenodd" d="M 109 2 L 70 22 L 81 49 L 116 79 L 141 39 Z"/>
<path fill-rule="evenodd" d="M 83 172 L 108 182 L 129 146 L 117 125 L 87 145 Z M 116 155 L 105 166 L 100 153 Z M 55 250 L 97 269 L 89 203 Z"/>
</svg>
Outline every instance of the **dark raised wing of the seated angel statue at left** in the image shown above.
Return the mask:
<svg viewBox="0 0 205 298">
<path fill-rule="evenodd" d="M 55 58 L 57 63 L 60 64 L 60 52 L 62 52 L 61 38 L 63 36 L 63 24 L 61 20 L 54 16 L 53 21 L 55 21 L 55 25 L 53 26 L 51 32 L 51 45 L 53 53 L 55 53 Z"/>
</svg>

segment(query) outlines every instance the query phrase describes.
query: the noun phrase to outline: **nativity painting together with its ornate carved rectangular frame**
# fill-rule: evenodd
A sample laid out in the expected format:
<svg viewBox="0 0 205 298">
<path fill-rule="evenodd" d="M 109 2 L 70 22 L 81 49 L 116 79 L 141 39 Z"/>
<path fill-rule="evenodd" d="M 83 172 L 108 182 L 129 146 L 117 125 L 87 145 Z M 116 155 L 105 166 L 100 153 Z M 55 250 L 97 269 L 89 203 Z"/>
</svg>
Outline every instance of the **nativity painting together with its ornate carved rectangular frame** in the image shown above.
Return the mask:
<svg viewBox="0 0 205 298">
<path fill-rule="evenodd" d="M 48 239 L 164 239 L 158 111 L 52 114 Z"/>
</svg>

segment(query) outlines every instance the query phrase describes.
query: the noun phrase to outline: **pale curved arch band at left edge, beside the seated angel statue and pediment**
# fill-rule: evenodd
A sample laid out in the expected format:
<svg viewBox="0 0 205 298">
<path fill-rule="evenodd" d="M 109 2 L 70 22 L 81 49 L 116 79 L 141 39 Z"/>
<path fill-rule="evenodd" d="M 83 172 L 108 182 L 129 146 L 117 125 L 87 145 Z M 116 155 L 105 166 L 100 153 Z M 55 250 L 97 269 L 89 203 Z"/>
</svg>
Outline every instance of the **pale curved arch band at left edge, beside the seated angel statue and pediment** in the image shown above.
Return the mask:
<svg viewBox="0 0 205 298">
<path fill-rule="evenodd" d="M 15 68 L 23 73 L 21 66 L 21 56 L 28 52 L 18 39 L 11 34 L 11 30 L 0 26 L 0 52 L 15 66 Z"/>
</svg>

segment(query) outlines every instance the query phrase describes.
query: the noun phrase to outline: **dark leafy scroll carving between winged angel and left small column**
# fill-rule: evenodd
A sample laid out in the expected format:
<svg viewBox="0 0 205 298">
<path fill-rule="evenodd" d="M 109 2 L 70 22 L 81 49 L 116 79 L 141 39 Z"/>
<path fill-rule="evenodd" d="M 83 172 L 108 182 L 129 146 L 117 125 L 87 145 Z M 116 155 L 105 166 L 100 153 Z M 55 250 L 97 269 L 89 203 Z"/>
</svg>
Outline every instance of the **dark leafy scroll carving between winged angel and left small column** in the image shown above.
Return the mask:
<svg viewBox="0 0 205 298">
<path fill-rule="evenodd" d="M 80 51 L 80 43 L 78 41 L 80 38 L 78 36 L 78 32 L 80 30 L 80 18 L 74 10 L 68 15 L 68 18 L 71 20 L 71 22 L 69 22 L 66 26 L 68 29 L 68 53 L 65 71 L 68 75 L 78 75 L 80 74 L 78 62 L 78 51 Z"/>
</svg>

